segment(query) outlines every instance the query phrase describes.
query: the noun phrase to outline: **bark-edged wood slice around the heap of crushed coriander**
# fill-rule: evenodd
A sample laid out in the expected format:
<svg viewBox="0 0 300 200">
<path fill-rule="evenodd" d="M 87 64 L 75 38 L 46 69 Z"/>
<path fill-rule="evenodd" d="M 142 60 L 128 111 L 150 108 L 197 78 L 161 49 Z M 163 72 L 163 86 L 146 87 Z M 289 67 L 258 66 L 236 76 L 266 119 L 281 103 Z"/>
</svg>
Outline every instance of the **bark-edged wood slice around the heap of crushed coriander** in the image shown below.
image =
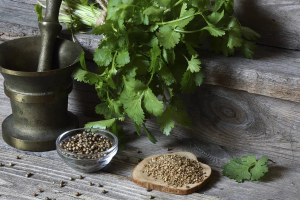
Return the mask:
<svg viewBox="0 0 300 200">
<path fill-rule="evenodd" d="M 167 154 L 177 154 L 181 156 L 185 156 L 186 158 L 189 159 L 194 159 L 197 160 L 197 157 L 186 151 L 182 152 L 175 152 L 175 153 L 167 153 Z M 132 181 L 142 187 L 146 187 L 149 189 L 154 189 L 154 190 L 159 190 L 167 193 L 174 193 L 174 194 L 189 194 L 192 192 L 195 192 L 196 190 L 200 189 L 205 183 L 207 182 L 208 177 L 211 174 L 211 168 L 207 164 L 203 164 L 200 162 L 202 166 L 202 170 L 205 172 L 204 175 L 206 177 L 203 178 L 203 180 L 199 183 L 194 183 L 194 184 L 188 184 L 189 188 L 186 188 L 186 185 L 183 185 L 182 187 L 173 187 L 173 186 L 167 186 L 163 180 L 156 179 L 150 175 L 147 176 L 147 173 L 142 172 L 144 170 L 144 164 L 147 163 L 148 161 L 151 160 L 151 158 L 156 157 L 158 155 L 167 155 L 167 154 L 156 154 L 156 155 L 151 155 L 149 157 L 144 158 L 142 161 L 140 161 L 133 169 L 132 171 Z"/>
</svg>

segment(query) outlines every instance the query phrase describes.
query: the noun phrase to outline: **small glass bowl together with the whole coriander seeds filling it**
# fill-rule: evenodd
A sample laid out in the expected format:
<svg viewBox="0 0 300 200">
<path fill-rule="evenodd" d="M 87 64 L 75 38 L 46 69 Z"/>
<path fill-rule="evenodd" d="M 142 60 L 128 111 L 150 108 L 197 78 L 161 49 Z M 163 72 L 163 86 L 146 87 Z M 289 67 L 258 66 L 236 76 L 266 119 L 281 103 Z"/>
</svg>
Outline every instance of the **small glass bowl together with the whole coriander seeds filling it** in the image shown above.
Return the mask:
<svg viewBox="0 0 300 200">
<path fill-rule="evenodd" d="M 66 131 L 56 139 L 58 155 L 77 171 L 103 168 L 117 151 L 117 138 L 107 130 L 77 128 Z"/>
</svg>

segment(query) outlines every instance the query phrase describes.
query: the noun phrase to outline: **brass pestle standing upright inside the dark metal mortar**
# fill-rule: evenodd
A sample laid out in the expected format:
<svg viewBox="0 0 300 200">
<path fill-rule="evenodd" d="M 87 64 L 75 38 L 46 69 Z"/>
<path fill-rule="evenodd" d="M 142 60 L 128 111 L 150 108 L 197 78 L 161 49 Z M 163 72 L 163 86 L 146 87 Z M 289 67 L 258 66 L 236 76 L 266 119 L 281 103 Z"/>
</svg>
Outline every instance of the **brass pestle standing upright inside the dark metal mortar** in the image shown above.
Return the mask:
<svg viewBox="0 0 300 200">
<path fill-rule="evenodd" d="M 61 1 L 62 0 L 47 0 L 46 14 L 43 20 L 38 22 L 41 35 L 41 46 L 36 71 L 51 70 L 55 38 L 62 28 L 58 21 Z"/>
</svg>

